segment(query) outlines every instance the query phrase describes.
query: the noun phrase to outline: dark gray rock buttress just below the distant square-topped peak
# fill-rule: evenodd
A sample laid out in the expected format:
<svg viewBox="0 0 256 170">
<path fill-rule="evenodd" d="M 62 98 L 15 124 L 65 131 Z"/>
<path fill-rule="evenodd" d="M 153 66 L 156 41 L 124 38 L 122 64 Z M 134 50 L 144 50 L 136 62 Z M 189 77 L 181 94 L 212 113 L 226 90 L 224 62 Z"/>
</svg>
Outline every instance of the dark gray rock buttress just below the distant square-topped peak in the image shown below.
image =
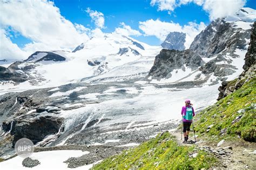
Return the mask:
<svg viewBox="0 0 256 170">
<path fill-rule="evenodd" d="M 204 62 L 201 57 L 191 50 L 178 51 L 163 49 L 160 51 L 159 55 L 156 56 L 154 65 L 149 72 L 149 76 L 169 78 L 174 69 L 184 70 L 185 65 L 192 70 L 196 70 L 203 64 Z"/>
</svg>

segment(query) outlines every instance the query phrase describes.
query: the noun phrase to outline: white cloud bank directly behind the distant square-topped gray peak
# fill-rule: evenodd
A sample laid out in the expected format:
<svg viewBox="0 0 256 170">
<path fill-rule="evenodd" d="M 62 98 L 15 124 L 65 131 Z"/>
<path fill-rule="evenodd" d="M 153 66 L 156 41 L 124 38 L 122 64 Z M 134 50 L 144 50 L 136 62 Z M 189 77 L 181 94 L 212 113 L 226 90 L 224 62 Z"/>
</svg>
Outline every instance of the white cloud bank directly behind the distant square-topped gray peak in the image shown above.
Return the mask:
<svg viewBox="0 0 256 170">
<path fill-rule="evenodd" d="M 203 22 L 200 24 L 190 22 L 188 25 L 181 26 L 179 23 L 161 22 L 159 19 L 149 19 L 145 22 L 139 22 L 139 29 L 144 32 L 144 36 L 156 36 L 161 41 L 164 41 L 170 32 L 184 32 L 186 33 L 185 47 L 188 49 L 190 44 L 202 30 L 206 28 Z"/>
</svg>

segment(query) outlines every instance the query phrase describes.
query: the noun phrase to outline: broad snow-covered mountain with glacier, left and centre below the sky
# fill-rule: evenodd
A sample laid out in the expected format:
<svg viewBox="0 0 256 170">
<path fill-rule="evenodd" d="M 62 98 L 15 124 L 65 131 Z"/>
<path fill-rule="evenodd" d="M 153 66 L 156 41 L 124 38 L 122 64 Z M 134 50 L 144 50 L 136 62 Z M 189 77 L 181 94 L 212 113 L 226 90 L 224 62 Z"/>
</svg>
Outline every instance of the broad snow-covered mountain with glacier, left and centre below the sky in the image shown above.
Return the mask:
<svg viewBox="0 0 256 170">
<path fill-rule="evenodd" d="M 150 69 L 154 56 L 160 50 L 160 46 L 150 46 L 117 33 L 106 33 L 102 37 L 91 38 L 72 52 L 37 51 L 23 62 L 2 67 L 1 91 L 59 86 L 89 77 L 97 79 L 95 76 L 99 75 L 100 78 L 108 77 L 103 75 L 107 72 L 111 72 L 111 77 L 144 73 Z M 140 60 L 142 64 L 139 64 Z M 147 60 L 146 65 L 143 60 Z M 136 64 L 132 65 L 133 62 Z"/>
</svg>

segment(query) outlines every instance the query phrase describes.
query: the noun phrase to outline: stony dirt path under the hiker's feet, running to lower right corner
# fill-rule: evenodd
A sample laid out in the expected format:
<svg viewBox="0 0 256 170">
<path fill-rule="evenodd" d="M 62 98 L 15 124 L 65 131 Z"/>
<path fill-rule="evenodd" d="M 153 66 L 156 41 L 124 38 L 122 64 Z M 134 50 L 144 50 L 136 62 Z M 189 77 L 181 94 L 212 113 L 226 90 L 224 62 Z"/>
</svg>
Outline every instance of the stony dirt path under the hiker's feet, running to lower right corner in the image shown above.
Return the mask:
<svg viewBox="0 0 256 170">
<path fill-rule="evenodd" d="M 224 141 L 222 145 L 208 144 L 205 140 L 196 138 L 194 142 L 193 133 L 189 136 L 189 143 L 184 144 L 181 140 L 180 130 L 170 132 L 173 134 L 180 145 L 193 146 L 212 152 L 219 160 L 220 164 L 217 169 L 256 169 L 256 144 L 250 142 L 232 142 Z M 197 136 L 196 136 L 197 137 Z M 218 142 L 218 141 L 217 141 Z"/>
</svg>

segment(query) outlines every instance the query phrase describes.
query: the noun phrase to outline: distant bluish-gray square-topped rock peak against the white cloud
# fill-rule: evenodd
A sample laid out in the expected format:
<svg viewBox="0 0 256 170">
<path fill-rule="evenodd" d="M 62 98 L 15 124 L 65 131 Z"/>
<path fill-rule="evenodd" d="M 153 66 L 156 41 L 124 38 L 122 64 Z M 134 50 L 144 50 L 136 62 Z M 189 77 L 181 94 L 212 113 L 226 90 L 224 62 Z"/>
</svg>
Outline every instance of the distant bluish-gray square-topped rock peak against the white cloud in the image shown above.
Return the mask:
<svg viewBox="0 0 256 170">
<path fill-rule="evenodd" d="M 183 32 L 170 32 L 161 46 L 168 50 L 185 50 L 184 43 L 186 42 L 186 33 Z"/>
</svg>

